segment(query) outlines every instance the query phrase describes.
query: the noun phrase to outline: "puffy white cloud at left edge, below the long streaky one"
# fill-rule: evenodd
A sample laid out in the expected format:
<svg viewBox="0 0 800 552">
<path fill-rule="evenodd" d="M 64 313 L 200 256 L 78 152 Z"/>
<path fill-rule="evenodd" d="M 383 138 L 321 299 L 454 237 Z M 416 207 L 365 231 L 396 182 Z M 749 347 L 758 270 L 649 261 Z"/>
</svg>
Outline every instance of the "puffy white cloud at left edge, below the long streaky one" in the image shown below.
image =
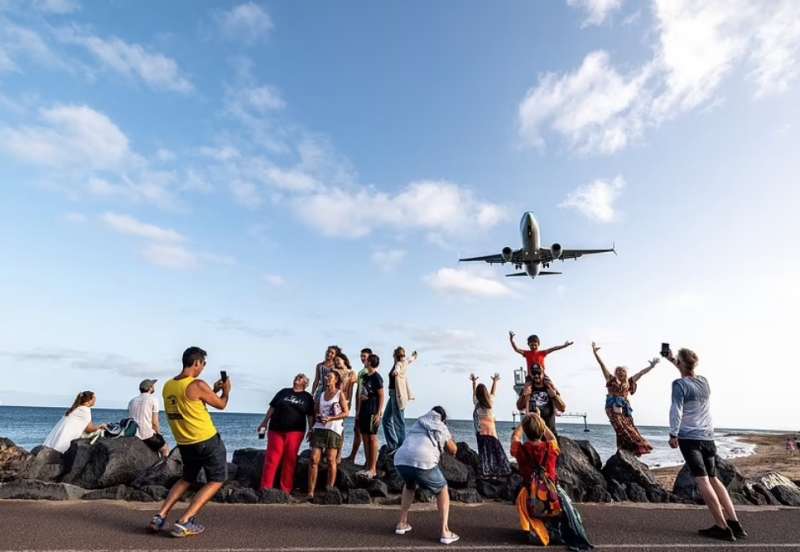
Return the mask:
<svg viewBox="0 0 800 552">
<path fill-rule="evenodd" d="M 54 168 L 113 169 L 129 163 L 128 138 L 104 114 L 85 105 L 41 109 L 39 126 L 0 127 L 0 148 Z"/>
</svg>

